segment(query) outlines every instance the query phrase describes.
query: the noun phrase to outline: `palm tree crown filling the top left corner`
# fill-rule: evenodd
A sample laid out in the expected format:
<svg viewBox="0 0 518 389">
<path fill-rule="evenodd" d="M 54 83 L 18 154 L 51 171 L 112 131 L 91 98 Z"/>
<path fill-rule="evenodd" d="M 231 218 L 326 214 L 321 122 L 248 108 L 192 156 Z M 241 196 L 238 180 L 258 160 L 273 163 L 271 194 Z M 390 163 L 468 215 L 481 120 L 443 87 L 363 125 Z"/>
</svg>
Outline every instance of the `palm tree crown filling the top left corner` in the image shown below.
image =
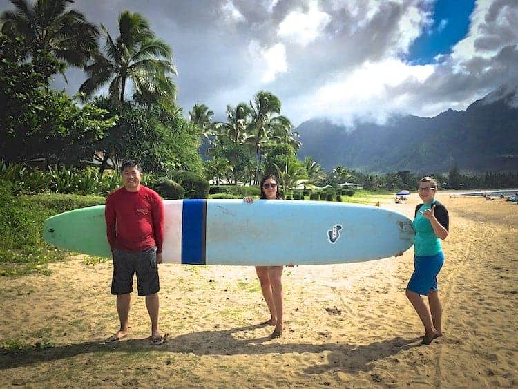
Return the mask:
<svg viewBox="0 0 518 389">
<path fill-rule="evenodd" d="M 1 31 L 26 41 L 32 54 L 38 50 L 52 53 L 71 66 L 84 66 L 97 51 L 97 27 L 81 12 L 67 10 L 73 0 L 11 0 L 15 11 L 1 15 Z"/>
</svg>

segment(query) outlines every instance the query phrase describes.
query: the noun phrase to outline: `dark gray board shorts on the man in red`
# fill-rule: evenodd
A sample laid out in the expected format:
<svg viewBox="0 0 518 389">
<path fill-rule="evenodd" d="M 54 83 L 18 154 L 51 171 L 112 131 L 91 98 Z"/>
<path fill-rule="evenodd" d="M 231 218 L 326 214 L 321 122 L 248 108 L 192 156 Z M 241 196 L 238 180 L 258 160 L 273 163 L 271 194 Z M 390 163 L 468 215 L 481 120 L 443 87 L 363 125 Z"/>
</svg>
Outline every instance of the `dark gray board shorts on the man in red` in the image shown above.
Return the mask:
<svg viewBox="0 0 518 389">
<path fill-rule="evenodd" d="M 113 249 L 111 294 L 133 292 L 133 274 L 135 273 L 137 274 L 139 296 L 155 294 L 160 290 L 156 247 L 150 247 L 142 252 Z"/>
</svg>

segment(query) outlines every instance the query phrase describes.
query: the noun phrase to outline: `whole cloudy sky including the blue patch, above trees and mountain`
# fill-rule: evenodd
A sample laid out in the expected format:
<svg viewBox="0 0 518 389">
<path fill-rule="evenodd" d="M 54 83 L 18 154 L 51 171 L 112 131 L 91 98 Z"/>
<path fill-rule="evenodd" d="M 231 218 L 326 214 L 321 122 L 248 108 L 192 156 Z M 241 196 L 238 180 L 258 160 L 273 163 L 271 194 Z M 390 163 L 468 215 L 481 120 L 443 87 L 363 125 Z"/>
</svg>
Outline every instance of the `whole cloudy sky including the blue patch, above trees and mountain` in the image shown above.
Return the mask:
<svg viewBox="0 0 518 389">
<path fill-rule="evenodd" d="M 12 8 L 0 0 L 0 9 Z M 76 0 L 117 36 L 123 10 L 140 12 L 173 48 L 178 104 L 227 104 L 260 90 L 298 125 L 312 117 L 384 120 L 465 109 L 518 84 L 517 0 Z M 76 93 L 84 82 L 69 70 Z"/>
</svg>

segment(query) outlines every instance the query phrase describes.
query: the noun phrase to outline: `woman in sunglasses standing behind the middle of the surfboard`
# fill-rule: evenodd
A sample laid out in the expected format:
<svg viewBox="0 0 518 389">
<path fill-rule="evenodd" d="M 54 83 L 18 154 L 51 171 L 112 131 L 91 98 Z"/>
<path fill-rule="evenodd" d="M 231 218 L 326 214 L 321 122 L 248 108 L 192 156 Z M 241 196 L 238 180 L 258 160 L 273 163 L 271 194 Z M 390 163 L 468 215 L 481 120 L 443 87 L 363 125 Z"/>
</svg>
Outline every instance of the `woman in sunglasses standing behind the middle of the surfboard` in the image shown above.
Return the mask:
<svg viewBox="0 0 518 389">
<path fill-rule="evenodd" d="M 278 180 L 275 175 L 265 175 L 260 182 L 260 198 L 266 200 L 279 200 L 282 197 L 279 193 Z M 244 201 L 252 203 L 253 198 L 245 197 Z M 288 265 L 292 266 L 292 265 Z M 265 325 L 275 325 L 271 338 L 278 338 L 282 335 L 282 266 L 256 266 L 256 273 L 261 284 L 262 296 L 270 311 L 270 319 Z"/>
</svg>

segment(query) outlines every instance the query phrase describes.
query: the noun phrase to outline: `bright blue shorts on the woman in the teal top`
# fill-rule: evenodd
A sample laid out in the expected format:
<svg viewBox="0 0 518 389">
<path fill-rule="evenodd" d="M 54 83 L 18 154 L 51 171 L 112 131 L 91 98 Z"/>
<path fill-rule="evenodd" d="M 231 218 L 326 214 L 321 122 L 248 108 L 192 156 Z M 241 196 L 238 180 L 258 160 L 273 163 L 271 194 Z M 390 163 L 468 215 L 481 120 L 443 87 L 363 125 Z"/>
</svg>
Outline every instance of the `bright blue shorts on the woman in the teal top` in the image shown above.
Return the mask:
<svg viewBox="0 0 518 389">
<path fill-rule="evenodd" d="M 431 256 L 414 256 L 414 273 L 408 281 L 407 290 L 418 294 L 437 291 L 437 274 L 444 263 L 444 254 L 440 252 Z"/>
</svg>

